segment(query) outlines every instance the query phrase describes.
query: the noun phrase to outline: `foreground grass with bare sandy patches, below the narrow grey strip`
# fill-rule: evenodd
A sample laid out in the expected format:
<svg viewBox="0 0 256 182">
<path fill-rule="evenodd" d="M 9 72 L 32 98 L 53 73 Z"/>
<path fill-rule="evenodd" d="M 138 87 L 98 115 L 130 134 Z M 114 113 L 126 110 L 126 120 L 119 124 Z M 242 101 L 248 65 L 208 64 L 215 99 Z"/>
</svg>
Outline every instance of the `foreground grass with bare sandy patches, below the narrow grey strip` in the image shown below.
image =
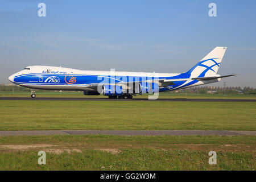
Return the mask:
<svg viewBox="0 0 256 182">
<path fill-rule="evenodd" d="M 255 136 L 66 135 L 1 137 L 0 170 L 255 170 Z M 51 147 L 6 149 L 7 145 Z M 55 154 L 47 150 L 80 150 Z M 104 150 L 105 149 L 105 150 Z M 106 151 L 118 150 L 117 153 Z M 38 151 L 46 150 L 46 165 L 38 164 Z M 208 153 L 217 152 L 217 164 Z"/>
</svg>

